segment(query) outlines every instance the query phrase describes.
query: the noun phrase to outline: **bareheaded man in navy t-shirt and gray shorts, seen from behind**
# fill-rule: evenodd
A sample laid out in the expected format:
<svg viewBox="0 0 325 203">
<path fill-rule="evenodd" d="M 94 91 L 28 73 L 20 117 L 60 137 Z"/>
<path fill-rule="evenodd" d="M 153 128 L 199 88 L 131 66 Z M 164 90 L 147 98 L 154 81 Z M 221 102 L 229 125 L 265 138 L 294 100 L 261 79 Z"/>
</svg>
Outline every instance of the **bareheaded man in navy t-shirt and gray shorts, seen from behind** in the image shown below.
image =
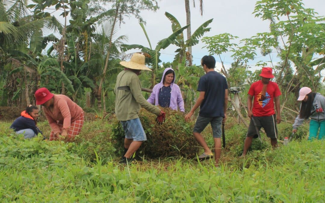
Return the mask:
<svg viewBox="0 0 325 203">
<path fill-rule="evenodd" d="M 226 78 L 214 71 L 215 59 L 213 56 L 204 56 L 201 59 L 201 65 L 206 74 L 199 81 L 198 91 L 200 91 L 200 96 L 194 107 L 185 116 L 185 121 L 190 119 L 194 111 L 200 106 L 199 116 L 193 129 L 195 139 L 204 148 L 204 153 L 199 156 L 199 159 L 204 160 L 213 157 L 213 153 L 201 135 L 204 128 L 211 123 L 214 139 L 215 166 L 219 166 L 218 163 L 221 155 L 221 124 L 227 118 L 228 85 Z"/>
</svg>

